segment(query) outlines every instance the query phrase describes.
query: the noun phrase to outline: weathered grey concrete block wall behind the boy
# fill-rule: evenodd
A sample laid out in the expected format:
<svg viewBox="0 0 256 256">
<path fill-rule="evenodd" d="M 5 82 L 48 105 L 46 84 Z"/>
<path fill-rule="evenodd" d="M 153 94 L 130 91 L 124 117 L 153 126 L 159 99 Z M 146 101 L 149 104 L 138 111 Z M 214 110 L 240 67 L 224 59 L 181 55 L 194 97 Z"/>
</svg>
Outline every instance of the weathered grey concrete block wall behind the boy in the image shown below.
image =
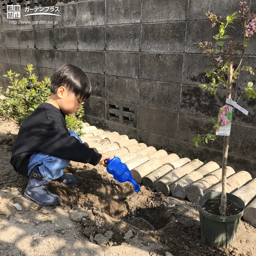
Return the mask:
<svg viewBox="0 0 256 256">
<path fill-rule="evenodd" d="M 23 6 L 28 2 L 31 7 L 40 6 L 35 0 L 23 0 Z M 60 17 L 22 17 L 23 8 L 21 20 L 31 24 L 17 25 L 7 20 L 6 4 L 7 0 L 0 1 L 0 83 L 4 88 L 8 82 L 2 75 L 9 69 L 25 75 L 28 63 L 34 64 L 40 80 L 62 64 L 77 65 L 93 85 L 85 104 L 91 125 L 221 164 L 222 137 L 221 143 L 199 149 L 192 144 L 195 135 L 212 128 L 211 116 L 216 117 L 219 109 L 214 97 L 197 86 L 206 82 L 208 60 L 193 43 L 212 38 L 206 11 L 226 16 L 238 9 L 238 0 L 51 0 L 42 4 L 59 7 Z M 256 13 L 256 2 L 248 4 Z M 40 20 L 58 24 L 35 24 Z M 256 71 L 255 45 L 256 36 L 244 65 Z M 256 83 L 255 76 L 240 75 L 233 100 L 248 81 Z M 224 90 L 219 98 L 225 102 Z M 243 93 L 238 104 L 249 115 L 235 111 L 228 165 L 256 176 L 256 99 L 247 101 Z"/>
</svg>

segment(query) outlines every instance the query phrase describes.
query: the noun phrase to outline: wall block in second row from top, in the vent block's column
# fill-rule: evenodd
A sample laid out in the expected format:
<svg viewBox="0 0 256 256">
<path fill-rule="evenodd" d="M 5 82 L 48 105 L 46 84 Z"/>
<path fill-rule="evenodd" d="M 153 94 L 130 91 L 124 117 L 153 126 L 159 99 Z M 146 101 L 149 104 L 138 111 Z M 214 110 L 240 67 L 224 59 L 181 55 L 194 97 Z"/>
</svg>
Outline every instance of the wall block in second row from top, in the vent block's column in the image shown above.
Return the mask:
<svg viewBox="0 0 256 256">
<path fill-rule="evenodd" d="M 140 50 L 140 29 L 140 25 L 107 26 L 106 49 L 138 52 Z"/>
</svg>

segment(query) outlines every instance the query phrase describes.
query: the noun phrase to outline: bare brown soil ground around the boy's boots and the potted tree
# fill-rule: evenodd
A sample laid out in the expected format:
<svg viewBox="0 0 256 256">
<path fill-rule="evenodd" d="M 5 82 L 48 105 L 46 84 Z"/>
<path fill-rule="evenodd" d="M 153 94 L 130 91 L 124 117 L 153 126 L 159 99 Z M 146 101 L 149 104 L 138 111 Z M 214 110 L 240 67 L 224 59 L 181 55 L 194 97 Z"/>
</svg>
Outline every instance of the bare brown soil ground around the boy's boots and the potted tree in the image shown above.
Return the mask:
<svg viewBox="0 0 256 256">
<path fill-rule="evenodd" d="M 0 256 L 256 255 L 256 229 L 243 219 L 229 249 L 210 248 L 197 204 L 144 186 L 136 195 L 102 166 L 71 162 L 65 171 L 79 177 L 77 186 L 46 185 L 61 198 L 55 207 L 28 201 L 27 178 L 9 162 L 15 134 L 12 122 L 0 122 Z"/>
</svg>

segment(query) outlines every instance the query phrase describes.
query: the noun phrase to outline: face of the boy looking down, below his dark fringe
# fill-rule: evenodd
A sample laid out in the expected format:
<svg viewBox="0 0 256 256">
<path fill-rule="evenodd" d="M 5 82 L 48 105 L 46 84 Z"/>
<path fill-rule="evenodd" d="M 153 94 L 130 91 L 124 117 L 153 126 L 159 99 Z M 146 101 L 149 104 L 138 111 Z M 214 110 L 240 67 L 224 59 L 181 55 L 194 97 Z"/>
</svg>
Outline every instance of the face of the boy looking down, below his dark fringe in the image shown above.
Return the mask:
<svg viewBox="0 0 256 256">
<path fill-rule="evenodd" d="M 78 99 L 74 93 L 67 91 L 66 94 L 63 94 L 61 102 L 59 103 L 61 111 L 67 116 L 73 115 L 79 108 L 81 108 L 80 99 Z"/>
</svg>

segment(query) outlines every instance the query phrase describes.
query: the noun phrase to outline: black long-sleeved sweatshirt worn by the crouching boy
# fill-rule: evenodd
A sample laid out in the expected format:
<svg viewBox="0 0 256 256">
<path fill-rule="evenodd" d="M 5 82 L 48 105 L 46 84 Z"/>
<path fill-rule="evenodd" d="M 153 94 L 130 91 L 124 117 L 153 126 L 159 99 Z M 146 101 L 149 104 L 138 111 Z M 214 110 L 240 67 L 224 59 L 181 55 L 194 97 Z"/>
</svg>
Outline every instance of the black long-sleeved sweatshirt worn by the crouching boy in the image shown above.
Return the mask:
<svg viewBox="0 0 256 256">
<path fill-rule="evenodd" d="M 93 165 L 101 160 L 101 154 L 70 136 L 65 115 L 49 103 L 41 103 L 20 126 L 10 161 L 14 170 L 27 177 L 29 159 L 36 152 Z"/>
</svg>

